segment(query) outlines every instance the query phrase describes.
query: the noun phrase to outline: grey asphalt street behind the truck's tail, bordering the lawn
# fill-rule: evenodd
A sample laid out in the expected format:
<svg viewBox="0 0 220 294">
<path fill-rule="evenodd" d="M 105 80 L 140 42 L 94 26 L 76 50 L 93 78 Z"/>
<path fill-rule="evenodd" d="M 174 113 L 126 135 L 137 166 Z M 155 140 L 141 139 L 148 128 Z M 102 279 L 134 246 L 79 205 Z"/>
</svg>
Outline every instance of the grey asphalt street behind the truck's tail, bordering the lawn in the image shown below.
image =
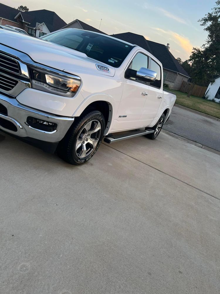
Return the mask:
<svg viewBox="0 0 220 294">
<path fill-rule="evenodd" d="M 163 128 L 220 151 L 220 121 L 174 106 L 170 119 Z"/>
</svg>

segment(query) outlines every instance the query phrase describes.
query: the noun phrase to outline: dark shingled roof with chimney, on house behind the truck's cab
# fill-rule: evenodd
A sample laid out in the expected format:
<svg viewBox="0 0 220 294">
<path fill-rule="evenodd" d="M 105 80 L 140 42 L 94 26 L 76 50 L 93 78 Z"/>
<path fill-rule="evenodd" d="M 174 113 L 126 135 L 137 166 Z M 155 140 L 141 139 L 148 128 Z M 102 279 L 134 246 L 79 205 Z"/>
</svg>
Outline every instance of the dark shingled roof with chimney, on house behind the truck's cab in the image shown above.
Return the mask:
<svg viewBox="0 0 220 294">
<path fill-rule="evenodd" d="M 189 74 L 183 69 L 181 64 L 175 59 L 172 53 L 167 49 L 164 44 L 156 43 L 146 40 L 144 36 L 133 33 L 122 33 L 111 35 L 114 38 L 136 44 L 143 49 L 153 54 L 162 64 L 164 69 L 178 72 L 184 76 L 190 77 Z"/>
</svg>

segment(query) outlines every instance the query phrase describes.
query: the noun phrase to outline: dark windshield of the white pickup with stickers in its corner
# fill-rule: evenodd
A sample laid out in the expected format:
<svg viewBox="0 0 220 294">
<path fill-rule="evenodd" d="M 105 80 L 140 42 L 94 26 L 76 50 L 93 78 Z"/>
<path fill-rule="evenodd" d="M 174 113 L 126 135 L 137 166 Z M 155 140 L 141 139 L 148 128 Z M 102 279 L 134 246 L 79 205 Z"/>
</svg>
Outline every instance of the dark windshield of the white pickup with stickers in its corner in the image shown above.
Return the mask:
<svg viewBox="0 0 220 294">
<path fill-rule="evenodd" d="M 75 49 L 113 67 L 119 67 L 134 47 L 108 36 L 77 29 L 64 29 L 40 39 Z"/>
</svg>

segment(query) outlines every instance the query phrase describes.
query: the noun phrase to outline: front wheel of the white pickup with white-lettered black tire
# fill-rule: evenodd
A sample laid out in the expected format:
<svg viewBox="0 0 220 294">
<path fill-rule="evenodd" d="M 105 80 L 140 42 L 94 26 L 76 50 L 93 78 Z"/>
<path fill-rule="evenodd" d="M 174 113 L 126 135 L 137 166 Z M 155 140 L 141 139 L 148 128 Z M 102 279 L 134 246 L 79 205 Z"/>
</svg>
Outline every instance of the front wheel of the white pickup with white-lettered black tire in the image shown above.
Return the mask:
<svg viewBox="0 0 220 294">
<path fill-rule="evenodd" d="M 94 132 L 96 129 L 98 131 Z M 58 155 L 70 164 L 78 165 L 87 162 L 98 150 L 104 130 L 105 119 L 100 111 L 84 113 L 60 141 Z"/>
</svg>

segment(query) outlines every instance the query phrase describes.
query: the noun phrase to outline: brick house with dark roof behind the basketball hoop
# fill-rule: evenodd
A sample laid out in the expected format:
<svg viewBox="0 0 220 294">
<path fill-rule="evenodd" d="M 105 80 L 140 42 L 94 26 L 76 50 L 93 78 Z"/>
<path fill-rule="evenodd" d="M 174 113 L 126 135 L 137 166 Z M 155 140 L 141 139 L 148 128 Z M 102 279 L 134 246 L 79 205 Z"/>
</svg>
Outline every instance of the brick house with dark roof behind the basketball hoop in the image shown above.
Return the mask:
<svg viewBox="0 0 220 294">
<path fill-rule="evenodd" d="M 43 24 L 42 31 L 36 29 L 36 23 Z M 29 35 L 40 37 L 57 31 L 66 23 L 54 11 L 34 10 L 23 12 L 0 3 L 0 24 L 16 26 Z"/>
</svg>

